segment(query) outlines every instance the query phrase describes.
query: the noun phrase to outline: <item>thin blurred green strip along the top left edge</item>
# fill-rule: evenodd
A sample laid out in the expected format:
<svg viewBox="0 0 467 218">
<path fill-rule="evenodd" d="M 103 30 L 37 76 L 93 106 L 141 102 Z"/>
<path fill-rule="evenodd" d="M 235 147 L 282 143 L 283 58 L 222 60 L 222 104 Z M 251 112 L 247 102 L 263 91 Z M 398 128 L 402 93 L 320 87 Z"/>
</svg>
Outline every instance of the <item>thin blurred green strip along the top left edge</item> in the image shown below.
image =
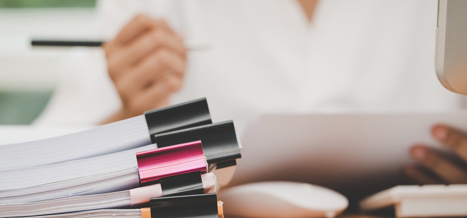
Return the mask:
<svg viewBox="0 0 467 218">
<path fill-rule="evenodd" d="M 0 8 L 94 7 L 96 0 L 0 0 Z"/>
</svg>

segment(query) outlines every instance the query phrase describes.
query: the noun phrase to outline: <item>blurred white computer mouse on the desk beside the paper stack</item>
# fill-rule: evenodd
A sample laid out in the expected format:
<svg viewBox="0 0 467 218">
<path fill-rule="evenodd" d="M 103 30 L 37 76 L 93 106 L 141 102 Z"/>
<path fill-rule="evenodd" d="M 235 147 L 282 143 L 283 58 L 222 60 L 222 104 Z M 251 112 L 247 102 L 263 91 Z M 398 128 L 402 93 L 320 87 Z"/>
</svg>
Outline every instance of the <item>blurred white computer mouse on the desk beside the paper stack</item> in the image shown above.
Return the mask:
<svg viewBox="0 0 467 218">
<path fill-rule="evenodd" d="M 221 190 L 224 213 L 241 217 L 333 218 L 348 200 L 340 193 L 308 183 L 285 181 L 249 183 Z"/>
</svg>

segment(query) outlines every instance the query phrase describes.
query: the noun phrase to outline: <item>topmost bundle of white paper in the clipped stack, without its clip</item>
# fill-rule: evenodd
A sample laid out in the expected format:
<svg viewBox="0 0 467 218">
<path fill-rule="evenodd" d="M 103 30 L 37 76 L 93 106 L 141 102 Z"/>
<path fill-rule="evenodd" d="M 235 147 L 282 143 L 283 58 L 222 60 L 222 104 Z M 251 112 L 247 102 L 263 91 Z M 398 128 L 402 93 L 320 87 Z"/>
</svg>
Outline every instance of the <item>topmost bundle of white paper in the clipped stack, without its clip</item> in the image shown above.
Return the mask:
<svg viewBox="0 0 467 218">
<path fill-rule="evenodd" d="M 40 133 L 40 127 L 36 131 Z M 140 115 L 83 132 L 1 145 L 0 170 L 78 160 L 149 144 L 151 141 L 146 118 Z"/>
</svg>

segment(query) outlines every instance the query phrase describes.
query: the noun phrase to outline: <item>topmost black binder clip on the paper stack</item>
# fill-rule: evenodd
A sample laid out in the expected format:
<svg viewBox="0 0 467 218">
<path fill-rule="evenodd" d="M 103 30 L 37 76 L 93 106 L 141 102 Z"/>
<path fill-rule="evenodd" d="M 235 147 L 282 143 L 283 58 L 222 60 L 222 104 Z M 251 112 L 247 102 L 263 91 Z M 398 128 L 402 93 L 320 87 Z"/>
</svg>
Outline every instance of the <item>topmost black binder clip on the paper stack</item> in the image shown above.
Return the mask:
<svg viewBox="0 0 467 218">
<path fill-rule="evenodd" d="M 212 124 L 206 98 L 147 111 L 144 116 L 149 135 Z"/>
</svg>

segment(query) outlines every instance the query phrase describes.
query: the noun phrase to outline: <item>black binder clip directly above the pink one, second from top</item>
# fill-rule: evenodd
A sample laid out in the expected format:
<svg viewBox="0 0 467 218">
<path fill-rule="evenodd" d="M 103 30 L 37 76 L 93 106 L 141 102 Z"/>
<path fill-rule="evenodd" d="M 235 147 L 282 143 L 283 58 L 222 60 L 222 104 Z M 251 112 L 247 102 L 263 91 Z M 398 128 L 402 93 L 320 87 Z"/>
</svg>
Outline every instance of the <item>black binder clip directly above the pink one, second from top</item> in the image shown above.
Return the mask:
<svg viewBox="0 0 467 218">
<path fill-rule="evenodd" d="M 236 159 L 241 158 L 232 120 L 151 135 L 152 143 L 157 143 L 158 148 L 198 140 L 203 142 L 210 170 L 212 166 L 216 169 L 234 166 Z"/>
</svg>

